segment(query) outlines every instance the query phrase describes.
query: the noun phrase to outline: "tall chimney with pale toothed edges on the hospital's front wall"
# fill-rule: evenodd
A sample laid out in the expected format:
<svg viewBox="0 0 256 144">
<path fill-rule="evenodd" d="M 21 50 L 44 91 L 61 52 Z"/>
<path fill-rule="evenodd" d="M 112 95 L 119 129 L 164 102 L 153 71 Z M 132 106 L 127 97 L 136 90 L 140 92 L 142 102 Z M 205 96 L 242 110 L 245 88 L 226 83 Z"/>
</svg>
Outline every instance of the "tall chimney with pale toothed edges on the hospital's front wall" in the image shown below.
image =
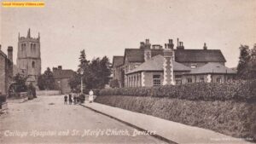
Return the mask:
<svg viewBox="0 0 256 144">
<path fill-rule="evenodd" d="M 168 44 L 165 44 L 166 49 L 164 49 L 164 85 L 174 85 L 174 75 L 173 75 L 173 61 L 174 61 L 174 50 L 173 46 L 169 41 Z"/>
</svg>

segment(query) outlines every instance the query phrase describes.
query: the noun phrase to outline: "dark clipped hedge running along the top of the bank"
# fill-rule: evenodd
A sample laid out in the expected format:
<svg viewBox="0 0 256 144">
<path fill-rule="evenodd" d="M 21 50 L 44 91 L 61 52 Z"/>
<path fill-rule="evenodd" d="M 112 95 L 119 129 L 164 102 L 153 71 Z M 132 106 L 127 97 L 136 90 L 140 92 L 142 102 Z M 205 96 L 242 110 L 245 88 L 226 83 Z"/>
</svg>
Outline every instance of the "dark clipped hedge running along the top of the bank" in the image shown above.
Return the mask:
<svg viewBox="0 0 256 144">
<path fill-rule="evenodd" d="M 232 83 L 195 83 L 159 87 L 102 89 L 100 95 L 169 97 L 190 101 L 255 101 L 256 80 Z"/>
</svg>

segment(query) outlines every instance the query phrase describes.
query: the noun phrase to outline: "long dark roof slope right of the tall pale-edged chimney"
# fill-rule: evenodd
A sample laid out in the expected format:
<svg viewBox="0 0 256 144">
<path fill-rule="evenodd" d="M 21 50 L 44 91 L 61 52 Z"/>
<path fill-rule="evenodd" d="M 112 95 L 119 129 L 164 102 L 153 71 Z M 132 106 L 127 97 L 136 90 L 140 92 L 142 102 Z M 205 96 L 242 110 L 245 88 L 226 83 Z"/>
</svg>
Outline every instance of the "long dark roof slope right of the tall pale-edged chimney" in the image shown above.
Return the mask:
<svg viewBox="0 0 256 144">
<path fill-rule="evenodd" d="M 226 62 L 219 49 L 176 49 L 175 60 L 178 62 Z"/>
</svg>

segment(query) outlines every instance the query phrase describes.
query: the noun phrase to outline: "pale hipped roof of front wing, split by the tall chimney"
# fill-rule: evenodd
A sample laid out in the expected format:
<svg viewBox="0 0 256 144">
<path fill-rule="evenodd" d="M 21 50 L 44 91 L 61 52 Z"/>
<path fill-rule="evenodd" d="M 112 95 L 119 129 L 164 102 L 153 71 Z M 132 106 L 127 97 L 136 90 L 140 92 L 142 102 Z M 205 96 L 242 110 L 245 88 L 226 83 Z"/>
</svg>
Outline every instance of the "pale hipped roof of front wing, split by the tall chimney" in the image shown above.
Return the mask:
<svg viewBox="0 0 256 144">
<path fill-rule="evenodd" d="M 144 62 L 142 65 L 137 66 L 137 68 L 131 70 L 130 72 L 127 72 L 126 74 L 130 74 L 133 72 L 144 72 L 144 71 L 164 71 L 163 66 L 164 65 L 164 56 L 162 55 L 156 55 L 152 57 L 150 60 Z M 177 72 L 189 72 L 190 68 L 187 66 L 184 66 L 181 63 L 178 63 L 174 61 L 173 63 L 173 71 Z"/>
</svg>

